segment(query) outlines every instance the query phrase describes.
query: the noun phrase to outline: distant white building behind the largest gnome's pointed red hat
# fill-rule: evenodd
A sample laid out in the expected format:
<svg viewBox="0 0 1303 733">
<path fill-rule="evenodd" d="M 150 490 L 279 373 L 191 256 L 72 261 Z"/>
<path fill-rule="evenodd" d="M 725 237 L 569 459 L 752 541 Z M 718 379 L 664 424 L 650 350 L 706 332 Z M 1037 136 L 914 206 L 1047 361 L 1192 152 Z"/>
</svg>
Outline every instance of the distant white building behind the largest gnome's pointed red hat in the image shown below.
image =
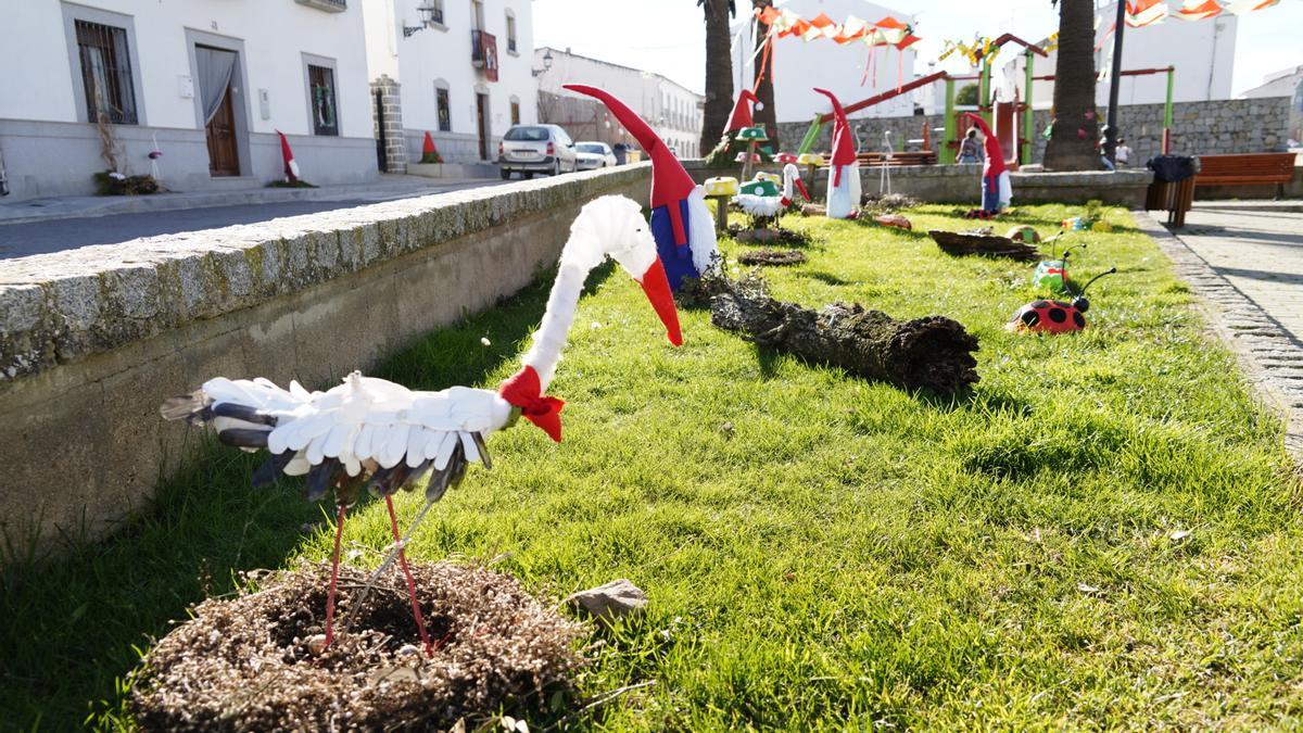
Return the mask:
<svg viewBox="0 0 1303 733">
<path fill-rule="evenodd" d="M 551 60 L 545 64 L 545 57 Z M 661 74 L 580 56 L 569 50 L 538 48 L 534 51 L 534 65 L 547 68 L 538 76 L 538 85 L 545 98 L 542 115 L 550 119 L 539 121 L 564 127 L 575 140 L 635 145 L 631 137 L 622 134 L 623 128 L 605 108 L 547 102 L 555 98 L 590 99 L 563 89 L 567 83 L 586 83 L 624 100 L 679 158 L 700 157 L 704 95 Z"/>
</svg>

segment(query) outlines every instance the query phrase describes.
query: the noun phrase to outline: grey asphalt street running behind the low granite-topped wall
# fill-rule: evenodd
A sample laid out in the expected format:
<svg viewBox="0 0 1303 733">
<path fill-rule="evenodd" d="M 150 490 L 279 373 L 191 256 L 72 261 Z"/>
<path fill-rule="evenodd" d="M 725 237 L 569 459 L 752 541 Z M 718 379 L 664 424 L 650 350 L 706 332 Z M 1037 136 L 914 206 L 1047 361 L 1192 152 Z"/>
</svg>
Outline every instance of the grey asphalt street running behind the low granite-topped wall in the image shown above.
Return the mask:
<svg viewBox="0 0 1303 733">
<path fill-rule="evenodd" d="M 311 201 L 272 201 L 235 206 L 202 206 L 162 211 L 133 211 L 77 218 L 51 218 L 21 223 L 0 223 L 0 260 L 76 249 L 91 244 L 116 244 L 142 236 L 211 230 L 231 224 L 266 222 L 335 209 L 364 206 L 378 201 L 427 196 L 502 183 L 496 179 L 435 181 L 405 189 L 379 189 L 353 196 Z"/>
</svg>

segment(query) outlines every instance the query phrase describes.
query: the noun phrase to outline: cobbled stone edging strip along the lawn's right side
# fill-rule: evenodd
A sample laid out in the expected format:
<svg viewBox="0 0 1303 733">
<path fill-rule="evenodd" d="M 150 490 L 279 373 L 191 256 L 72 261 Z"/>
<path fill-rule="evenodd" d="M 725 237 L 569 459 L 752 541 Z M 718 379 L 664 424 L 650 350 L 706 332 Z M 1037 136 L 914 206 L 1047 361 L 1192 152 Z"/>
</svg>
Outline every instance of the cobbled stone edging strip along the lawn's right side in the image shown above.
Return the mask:
<svg viewBox="0 0 1303 733">
<path fill-rule="evenodd" d="M 1248 382 L 1285 419 L 1285 450 L 1303 467 L 1303 343 L 1147 211 L 1131 215 L 1203 299 L 1209 326 L 1235 353 Z"/>
</svg>

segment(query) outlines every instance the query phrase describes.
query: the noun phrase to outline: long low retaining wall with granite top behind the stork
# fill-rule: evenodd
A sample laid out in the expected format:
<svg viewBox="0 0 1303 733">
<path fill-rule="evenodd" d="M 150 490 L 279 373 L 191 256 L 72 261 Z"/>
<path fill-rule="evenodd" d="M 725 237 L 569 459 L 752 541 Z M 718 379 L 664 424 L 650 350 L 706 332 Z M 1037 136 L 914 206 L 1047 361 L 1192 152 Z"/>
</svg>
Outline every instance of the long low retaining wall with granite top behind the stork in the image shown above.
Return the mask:
<svg viewBox="0 0 1303 733">
<path fill-rule="evenodd" d="M 334 382 L 555 262 L 636 164 L 0 262 L 0 533 L 91 539 L 185 458 L 163 399 L 214 376 Z M 541 314 L 539 314 L 541 316 Z"/>
</svg>

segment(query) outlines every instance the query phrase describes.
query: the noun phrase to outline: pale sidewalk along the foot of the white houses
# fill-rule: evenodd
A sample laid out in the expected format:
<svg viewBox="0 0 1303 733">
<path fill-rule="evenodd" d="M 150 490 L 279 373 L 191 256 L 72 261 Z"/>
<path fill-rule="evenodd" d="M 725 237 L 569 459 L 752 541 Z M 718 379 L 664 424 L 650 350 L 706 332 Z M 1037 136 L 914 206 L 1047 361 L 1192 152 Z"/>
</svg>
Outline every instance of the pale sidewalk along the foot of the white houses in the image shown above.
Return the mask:
<svg viewBox="0 0 1303 733">
<path fill-rule="evenodd" d="M 232 190 L 168 192 L 151 196 L 66 196 L 57 198 L 0 200 L 0 226 L 46 219 L 176 211 L 211 206 L 240 206 L 288 201 L 388 201 L 474 188 L 499 179 L 433 179 L 380 173 L 366 185 L 323 185 L 319 188 L 246 188 Z"/>
</svg>

